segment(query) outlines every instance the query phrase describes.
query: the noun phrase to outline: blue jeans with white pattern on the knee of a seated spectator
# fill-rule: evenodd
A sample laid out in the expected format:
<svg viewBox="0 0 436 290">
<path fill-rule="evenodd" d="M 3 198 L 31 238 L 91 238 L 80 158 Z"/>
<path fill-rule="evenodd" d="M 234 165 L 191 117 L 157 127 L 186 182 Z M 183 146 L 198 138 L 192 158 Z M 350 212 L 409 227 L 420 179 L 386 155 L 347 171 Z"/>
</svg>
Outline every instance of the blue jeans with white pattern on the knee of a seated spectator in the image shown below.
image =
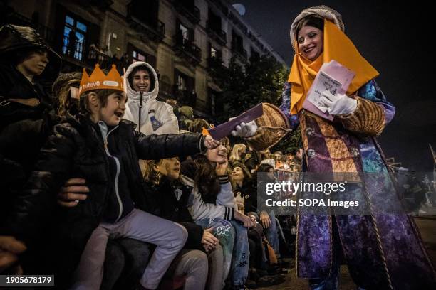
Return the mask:
<svg viewBox="0 0 436 290">
<path fill-rule="evenodd" d="M 224 254 L 224 279 L 232 269 L 232 283 L 243 286 L 248 276 L 250 256 L 246 228 L 238 222 L 220 218 L 205 218 L 195 223 L 204 229 L 213 227 Z"/>
</svg>

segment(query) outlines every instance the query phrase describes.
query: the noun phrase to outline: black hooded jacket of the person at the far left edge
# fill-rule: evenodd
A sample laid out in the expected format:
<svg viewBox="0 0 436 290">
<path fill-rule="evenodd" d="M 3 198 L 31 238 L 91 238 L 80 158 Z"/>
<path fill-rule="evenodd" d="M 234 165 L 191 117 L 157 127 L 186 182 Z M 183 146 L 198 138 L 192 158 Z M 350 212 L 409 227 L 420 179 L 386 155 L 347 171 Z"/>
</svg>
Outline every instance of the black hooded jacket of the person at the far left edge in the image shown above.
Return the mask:
<svg viewBox="0 0 436 290">
<path fill-rule="evenodd" d="M 17 55 L 24 50 L 48 51 L 50 63 L 41 77 L 58 75 L 61 58 L 33 28 L 5 25 L 0 28 L 0 222 L 9 213 L 11 200 L 21 188 L 36 161 L 36 156 L 57 122 L 51 98 L 38 81 L 33 84 L 16 69 Z M 39 100 L 36 107 L 9 99 Z M 14 174 L 7 178 L 7 174 Z M 6 175 L 5 175 L 6 173 Z"/>
</svg>

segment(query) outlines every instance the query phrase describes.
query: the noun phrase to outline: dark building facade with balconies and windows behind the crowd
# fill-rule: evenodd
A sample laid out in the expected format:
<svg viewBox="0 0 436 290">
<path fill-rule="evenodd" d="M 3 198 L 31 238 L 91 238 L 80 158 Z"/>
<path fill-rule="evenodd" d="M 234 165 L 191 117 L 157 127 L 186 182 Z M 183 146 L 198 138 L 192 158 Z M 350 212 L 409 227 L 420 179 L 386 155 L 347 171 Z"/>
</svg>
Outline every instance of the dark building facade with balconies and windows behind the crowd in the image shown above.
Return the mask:
<svg viewBox="0 0 436 290">
<path fill-rule="evenodd" d="M 225 0 L 15 0 L 1 2 L 1 22 L 32 26 L 63 57 L 63 71 L 95 63 L 125 68 L 153 65 L 160 99 L 194 107 L 199 117 L 219 114 L 220 89 L 210 70 L 243 65 L 251 57 L 284 60 Z"/>
</svg>

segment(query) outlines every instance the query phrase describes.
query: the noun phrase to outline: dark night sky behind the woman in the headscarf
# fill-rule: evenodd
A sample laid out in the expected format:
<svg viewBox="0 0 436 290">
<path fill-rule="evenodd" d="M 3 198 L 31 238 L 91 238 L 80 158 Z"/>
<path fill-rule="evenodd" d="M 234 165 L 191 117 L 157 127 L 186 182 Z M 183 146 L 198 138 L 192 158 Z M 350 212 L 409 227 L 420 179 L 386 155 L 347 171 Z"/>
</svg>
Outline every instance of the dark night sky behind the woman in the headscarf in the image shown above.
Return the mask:
<svg viewBox="0 0 436 290">
<path fill-rule="evenodd" d="M 436 149 L 436 7 L 418 1 L 241 0 L 244 19 L 291 65 L 289 28 L 302 9 L 324 4 L 342 14 L 346 34 L 378 70 L 378 85 L 397 109 L 378 138 L 386 157 L 432 171 Z"/>
</svg>

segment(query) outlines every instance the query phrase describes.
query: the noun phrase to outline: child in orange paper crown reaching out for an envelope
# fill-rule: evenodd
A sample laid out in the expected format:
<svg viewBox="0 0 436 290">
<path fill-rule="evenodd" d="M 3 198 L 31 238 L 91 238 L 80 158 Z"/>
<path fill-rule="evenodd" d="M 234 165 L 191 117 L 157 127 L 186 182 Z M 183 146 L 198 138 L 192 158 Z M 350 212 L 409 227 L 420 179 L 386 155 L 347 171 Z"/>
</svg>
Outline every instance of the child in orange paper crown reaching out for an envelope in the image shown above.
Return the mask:
<svg viewBox="0 0 436 290">
<path fill-rule="evenodd" d="M 105 248 L 110 235 L 131 237 L 157 247 L 140 279 L 146 289 L 156 289 L 177 252 L 185 245 L 187 231 L 175 222 L 135 209 L 135 203 L 153 206 L 138 166 L 140 159 L 165 159 L 194 155 L 219 145 L 201 134 L 145 136 L 123 118 L 126 95 L 123 78 L 113 65 L 105 75 L 95 65 L 85 69 L 79 87 L 81 113 L 69 115 L 55 127 L 41 151 L 11 220 L 11 234 L 28 242 L 56 205 L 56 194 L 71 176 L 85 178 L 88 198 L 56 217 L 63 251 L 56 265 L 66 278 L 74 269 L 71 289 L 99 289 Z M 70 285 L 71 286 L 71 285 Z"/>
</svg>

